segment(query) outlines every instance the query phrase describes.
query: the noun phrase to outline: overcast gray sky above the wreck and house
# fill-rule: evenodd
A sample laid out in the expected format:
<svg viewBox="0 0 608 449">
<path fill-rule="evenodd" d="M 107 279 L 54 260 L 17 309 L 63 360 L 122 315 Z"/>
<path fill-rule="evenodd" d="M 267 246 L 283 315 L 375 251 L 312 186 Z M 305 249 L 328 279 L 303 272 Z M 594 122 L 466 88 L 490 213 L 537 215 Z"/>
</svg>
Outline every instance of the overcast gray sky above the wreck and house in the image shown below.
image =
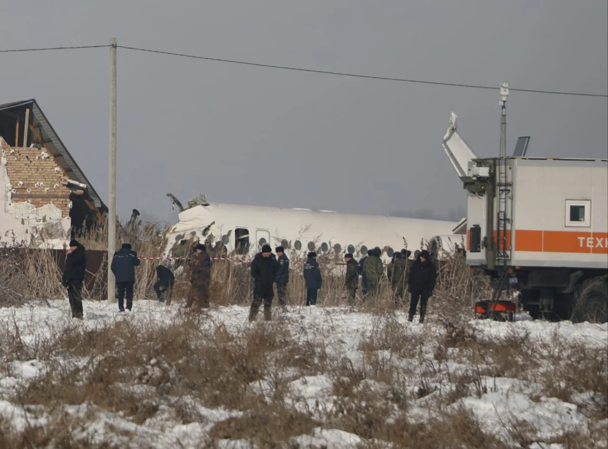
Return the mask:
<svg viewBox="0 0 608 449">
<path fill-rule="evenodd" d="M 52 4 L 52 5 L 51 5 Z M 0 47 L 106 44 L 387 77 L 606 94 L 606 0 L 4 0 Z M 118 50 L 118 209 L 166 192 L 389 214 L 461 210 L 449 114 L 499 152 L 497 91 Z M 35 98 L 108 198 L 109 50 L 0 54 L 0 103 Z M 606 157 L 607 100 L 512 92 L 507 147 Z M 456 212 L 458 214 L 458 212 Z"/>
</svg>

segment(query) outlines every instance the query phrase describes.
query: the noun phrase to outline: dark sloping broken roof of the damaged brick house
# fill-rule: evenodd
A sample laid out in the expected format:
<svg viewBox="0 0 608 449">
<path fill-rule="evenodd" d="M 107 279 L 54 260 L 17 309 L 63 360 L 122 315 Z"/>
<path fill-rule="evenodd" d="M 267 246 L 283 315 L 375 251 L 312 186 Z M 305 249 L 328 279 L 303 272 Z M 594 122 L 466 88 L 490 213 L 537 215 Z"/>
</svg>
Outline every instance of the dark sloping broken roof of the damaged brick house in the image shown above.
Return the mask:
<svg viewBox="0 0 608 449">
<path fill-rule="evenodd" d="M 60 164 L 64 170 L 66 170 L 69 178 L 74 179 L 79 183 L 86 184 L 87 192 L 97 209 L 107 211 L 108 208 L 105 206 L 105 204 L 103 204 L 102 199 L 99 197 L 97 192 L 95 192 L 95 189 L 93 186 L 91 186 L 91 183 L 89 183 L 89 180 L 86 178 L 82 170 L 80 170 L 80 167 L 78 167 L 78 164 L 76 161 L 74 161 L 74 158 L 72 158 L 69 151 L 67 151 L 66 146 L 50 125 L 49 120 L 47 120 L 35 99 L 4 103 L 0 105 L 0 112 L 7 113 L 10 112 L 10 110 L 21 110 L 23 108 L 30 109 L 30 115 L 33 116 L 33 123 L 30 125 L 30 128 L 32 131 L 36 130 L 36 132 L 40 134 L 44 142 L 44 147 L 50 151 L 55 158 L 55 161 L 57 161 L 57 163 Z M 24 146 L 25 145 L 26 143 L 24 143 Z"/>
</svg>

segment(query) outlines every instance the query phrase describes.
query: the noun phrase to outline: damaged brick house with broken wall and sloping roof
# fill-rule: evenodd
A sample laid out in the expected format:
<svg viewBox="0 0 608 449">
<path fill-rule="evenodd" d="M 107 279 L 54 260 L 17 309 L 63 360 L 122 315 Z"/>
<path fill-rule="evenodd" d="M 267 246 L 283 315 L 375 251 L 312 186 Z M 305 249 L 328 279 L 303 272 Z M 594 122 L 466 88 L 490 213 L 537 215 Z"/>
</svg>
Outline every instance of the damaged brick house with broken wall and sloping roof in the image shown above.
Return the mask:
<svg viewBox="0 0 608 449">
<path fill-rule="evenodd" d="M 107 207 L 36 100 L 0 104 L 0 242 L 61 248 Z"/>
</svg>

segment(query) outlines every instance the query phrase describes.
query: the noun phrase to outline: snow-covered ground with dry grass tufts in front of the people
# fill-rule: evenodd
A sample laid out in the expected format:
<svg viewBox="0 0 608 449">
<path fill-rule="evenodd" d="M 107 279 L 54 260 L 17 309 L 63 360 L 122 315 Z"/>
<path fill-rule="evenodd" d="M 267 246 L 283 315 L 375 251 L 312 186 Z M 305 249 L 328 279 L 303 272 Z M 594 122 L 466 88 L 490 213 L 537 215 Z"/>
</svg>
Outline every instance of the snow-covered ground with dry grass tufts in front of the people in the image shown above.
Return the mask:
<svg viewBox="0 0 608 449">
<path fill-rule="evenodd" d="M 141 329 L 140 336 L 131 334 L 137 340 L 161 329 L 154 335 L 162 338 L 162 330 L 171 324 L 188 322 L 177 304 L 167 307 L 138 301 L 133 312 L 118 313 L 115 304 L 85 302 L 83 321 L 69 318 L 67 301 L 0 308 L 2 429 L 13 436 L 36 429 L 49 433 L 61 422 L 71 441 L 86 442 L 83 447 L 258 447 L 262 445 L 260 434 L 243 424 L 247 419 L 271 427 L 256 420 L 259 413 L 254 405 L 248 408 L 257 397 L 269 409 L 280 406 L 283 412 L 291 410 L 294 416 L 303 417 L 305 431 L 297 434 L 283 426 L 277 447 L 433 447 L 432 438 L 439 436 L 424 431 L 416 436 L 413 429 L 420 424 L 442 428 L 442 422 L 463 414 L 471 417 L 472 428 L 486 442 L 502 444 L 500 447 L 565 449 L 573 447 L 568 438 L 582 442 L 581 435 L 593 440 L 596 447 L 607 445 L 608 398 L 597 381 L 598 376 L 606 375 L 606 324 L 549 323 L 521 317 L 513 323 L 471 320 L 465 327 L 451 327 L 432 315 L 421 325 L 407 322 L 402 311 L 373 315 L 330 307 L 292 307 L 287 313 L 275 310 L 271 323 L 249 323 L 247 313 L 246 307 L 212 308 L 197 318 L 201 333 L 192 335 L 189 342 L 195 349 L 180 349 L 194 354 L 194 366 L 199 363 L 196 351 L 210 344 L 210 339 L 228 351 L 239 342 L 255 348 L 252 335 L 286 335 L 284 349 L 294 350 L 294 355 L 284 357 L 280 341 L 278 347 L 269 346 L 264 352 L 268 369 L 256 368 L 258 375 L 251 377 L 255 380 L 243 387 L 240 406 L 223 399 L 225 393 L 219 387 L 219 397 L 209 399 L 204 389 L 210 381 L 204 380 L 205 375 L 201 374 L 201 385 L 192 381 L 188 362 L 171 361 L 170 353 L 150 356 L 128 375 L 117 361 L 115 372 L 104 368 L 97 379 L 100 375 L 94 360 L 107 359 L 110 354 L 118 359 L 128 357 L 133 349 L 129 341 L 118 341 L 118 333 L 105 335 L 106 331 Z M 167 335 L 172 332 L 167 330 Z M 75 341 L 74 335 L 80 340 Z M 102 338 L 110 342 L 116 338 L 116 349 L 103 349 Z M 140 355 L 145 352 L 148 357 L 144 343 L 133 341 L 141 345 Z M 79 344 L 98 344 L 99 349 L 78 353 L 74 346 Z M 294 344 L 303 352 L 297 353 Z M 310 360 L 306 351 L 312 351 Z M 218 354 L 219 366 L 223 362 L 221 351 Z M 71 378 L 63 374 L 70 370 L 78 376 L 72 378 L 72 385 L 61 385 L 60 379 Z M 137 413 L 133 406 L 110 404 L 96 393 L 102 388 L 98 385 L 112 382 L 112 388 L 140 402 Z M 230 379 L 223 385 L 230 385 Z M 70 403 L 67 393 L 59 392 L 66 388 L 91 393 L 80 397 L 81 403 Z M 253 399 L 247 399 L 249 395 Z M 145 416 L 140 414 L 144 404 L 153 405 Z M 264 434 L 266 440 L 268 434 L 270 430 Z M 59 436 L 49 438 L 31 447 L 60 447 Z M 467 441 L 459 447 L 485 445 Z M 460 440 L 455 437 L 455 442 Z"/>
</svg>

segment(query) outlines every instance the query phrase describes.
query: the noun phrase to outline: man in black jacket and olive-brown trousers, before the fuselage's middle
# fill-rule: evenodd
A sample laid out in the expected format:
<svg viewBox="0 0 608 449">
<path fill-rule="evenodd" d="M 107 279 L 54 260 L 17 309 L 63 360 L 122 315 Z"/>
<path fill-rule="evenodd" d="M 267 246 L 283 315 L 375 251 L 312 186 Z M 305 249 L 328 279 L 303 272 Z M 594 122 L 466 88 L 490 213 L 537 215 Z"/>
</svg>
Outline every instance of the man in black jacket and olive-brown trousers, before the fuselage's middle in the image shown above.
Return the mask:
<svg viewBox="0 0 608 449">
<path fill-rule="evenodd" d="M 264 319 L 272 318 L 272 298 L 274 298 L 274 283 L 277 280 L 278 263 L 272 257 L 269 245 L 262 246 L 262 251 L 255 255 L 251 262 L 251 276 L 254 278 L 254 302 L 249 310 L 249 321 L 254 321 L 264 302 Z"/>
</svg>

